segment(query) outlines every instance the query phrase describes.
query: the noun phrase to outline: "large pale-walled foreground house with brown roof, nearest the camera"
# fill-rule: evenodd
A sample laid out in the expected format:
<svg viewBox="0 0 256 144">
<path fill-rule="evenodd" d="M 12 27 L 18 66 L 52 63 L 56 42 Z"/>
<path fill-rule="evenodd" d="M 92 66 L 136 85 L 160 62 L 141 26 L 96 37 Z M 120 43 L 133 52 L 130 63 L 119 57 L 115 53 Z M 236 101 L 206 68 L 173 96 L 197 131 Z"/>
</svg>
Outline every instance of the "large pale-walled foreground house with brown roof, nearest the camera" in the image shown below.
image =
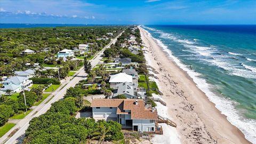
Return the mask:
<svg viewBox="0 0 256 144">
<path fill-rule="evenodd" d="M 142 99 L 93 99 L 92 117 L 97 121 L 113 120 L 125 129 L 139 132 L 155 132 L 157 111 L 145 108 Z"/>
</svg>

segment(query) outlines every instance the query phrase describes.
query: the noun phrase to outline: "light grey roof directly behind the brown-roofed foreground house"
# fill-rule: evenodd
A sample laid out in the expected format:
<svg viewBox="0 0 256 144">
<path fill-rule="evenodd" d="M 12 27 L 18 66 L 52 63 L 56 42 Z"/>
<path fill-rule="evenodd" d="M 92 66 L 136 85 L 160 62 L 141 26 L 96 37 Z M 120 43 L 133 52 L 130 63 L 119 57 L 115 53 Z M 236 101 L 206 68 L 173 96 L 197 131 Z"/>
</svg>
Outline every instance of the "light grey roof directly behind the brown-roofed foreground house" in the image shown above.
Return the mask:
<svg viewBox="0 0 256 144">
<path fill-rule="evenodd" d="M 114 97 L 116 97 L 119 94 L 129 94 L 129 95 L 134 95 L 134 90 L 133 90 L 133 86 L 131 83 L 121 83 L 116 85 L 117 86 L 117 93 L 114 93 Z"/>
</svg>

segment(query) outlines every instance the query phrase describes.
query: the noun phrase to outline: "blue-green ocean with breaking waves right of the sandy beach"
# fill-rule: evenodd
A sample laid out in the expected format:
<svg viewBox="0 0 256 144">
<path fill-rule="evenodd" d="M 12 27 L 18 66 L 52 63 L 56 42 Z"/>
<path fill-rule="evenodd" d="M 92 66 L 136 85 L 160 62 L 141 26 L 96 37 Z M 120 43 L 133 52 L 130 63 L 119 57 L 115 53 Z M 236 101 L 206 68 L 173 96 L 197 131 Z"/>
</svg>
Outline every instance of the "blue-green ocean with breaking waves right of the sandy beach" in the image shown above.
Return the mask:
<svg viewBox="0 0 256 144">
<path fill-rule="evenodd" d="M 256 143 L 256 25 L 142 26 Z"/>
</svg>

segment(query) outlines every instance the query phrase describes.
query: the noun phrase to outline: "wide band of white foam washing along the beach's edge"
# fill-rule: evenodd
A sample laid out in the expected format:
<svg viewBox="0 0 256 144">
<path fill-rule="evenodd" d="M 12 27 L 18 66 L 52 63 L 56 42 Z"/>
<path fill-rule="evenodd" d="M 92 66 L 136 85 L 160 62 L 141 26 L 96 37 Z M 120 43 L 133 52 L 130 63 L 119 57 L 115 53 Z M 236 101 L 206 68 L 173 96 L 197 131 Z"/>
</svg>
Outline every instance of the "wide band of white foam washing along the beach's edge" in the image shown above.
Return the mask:
<svg viewBox="0 0 256 144">
<path fill-rule="evenodd" d="M 156 41 L 158 42 L 158 45 L 163 48 L 163 51 L 169 54 L 169 58 L 173 60 L 181 69 L 186 71 L 187 74 L 197 84 L 197 87 L 207 95 L 210 101 L 215 103 L 215 107 L 221 111 L 221 114 L 226 115 L 228 121 L 231 124 L 237 126 L 238 129 L 240 129 L 244 133 L 245 138 L 247 140 L 251 141 L 252 143 L 256 143 L 256 138 L 255 138 L 256 120 L 247 119 L 241 116 L 241 114 L 239 114 L 239 112 L 235 109 L 235 106 L 239 105 L 239 103 L 230 99 L 226 99 L 224 97 L 219 97 L 217 96 L 217 94 L 214 94 L 213 92 L 211 92 L 211 89 L 213 88 L 213 86 L 206 83 L 205 79 L 200 78 L 199 76 L 201 74 L 196 73 L 194 70 L 191 70 L 186 65 L 184 65 L 177 57 L 175 57 L 172 54 L 171 50 L 167 49 L 166 45 L 164 45 L 161 41 L 159 41 L 159 39 L 156 39 Z M 219 63 L 219 61 L 215 61 L 215 63 Z M 223 62 L 219 64 L 224 66 L 226 65 L 226 63 L 223 63 Z"/>
</svg>

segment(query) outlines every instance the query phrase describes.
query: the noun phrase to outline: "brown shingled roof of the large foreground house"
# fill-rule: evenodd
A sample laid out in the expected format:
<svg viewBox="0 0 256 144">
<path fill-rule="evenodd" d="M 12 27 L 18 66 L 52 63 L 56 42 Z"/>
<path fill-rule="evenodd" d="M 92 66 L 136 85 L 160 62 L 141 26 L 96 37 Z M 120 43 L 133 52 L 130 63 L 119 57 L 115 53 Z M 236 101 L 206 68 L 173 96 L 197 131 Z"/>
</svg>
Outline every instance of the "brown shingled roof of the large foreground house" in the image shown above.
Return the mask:
<svg viewBox="0 0 256 144">
<path fill-rule="evenodd" d="M 116 114 L 129 114 L 125 110 L 131 110 L 131 119 L 157 119 L 157 111 L 145 109 L 142 99 L 93 99 L 91 107 L 116 107 Z"/>
</svg>

